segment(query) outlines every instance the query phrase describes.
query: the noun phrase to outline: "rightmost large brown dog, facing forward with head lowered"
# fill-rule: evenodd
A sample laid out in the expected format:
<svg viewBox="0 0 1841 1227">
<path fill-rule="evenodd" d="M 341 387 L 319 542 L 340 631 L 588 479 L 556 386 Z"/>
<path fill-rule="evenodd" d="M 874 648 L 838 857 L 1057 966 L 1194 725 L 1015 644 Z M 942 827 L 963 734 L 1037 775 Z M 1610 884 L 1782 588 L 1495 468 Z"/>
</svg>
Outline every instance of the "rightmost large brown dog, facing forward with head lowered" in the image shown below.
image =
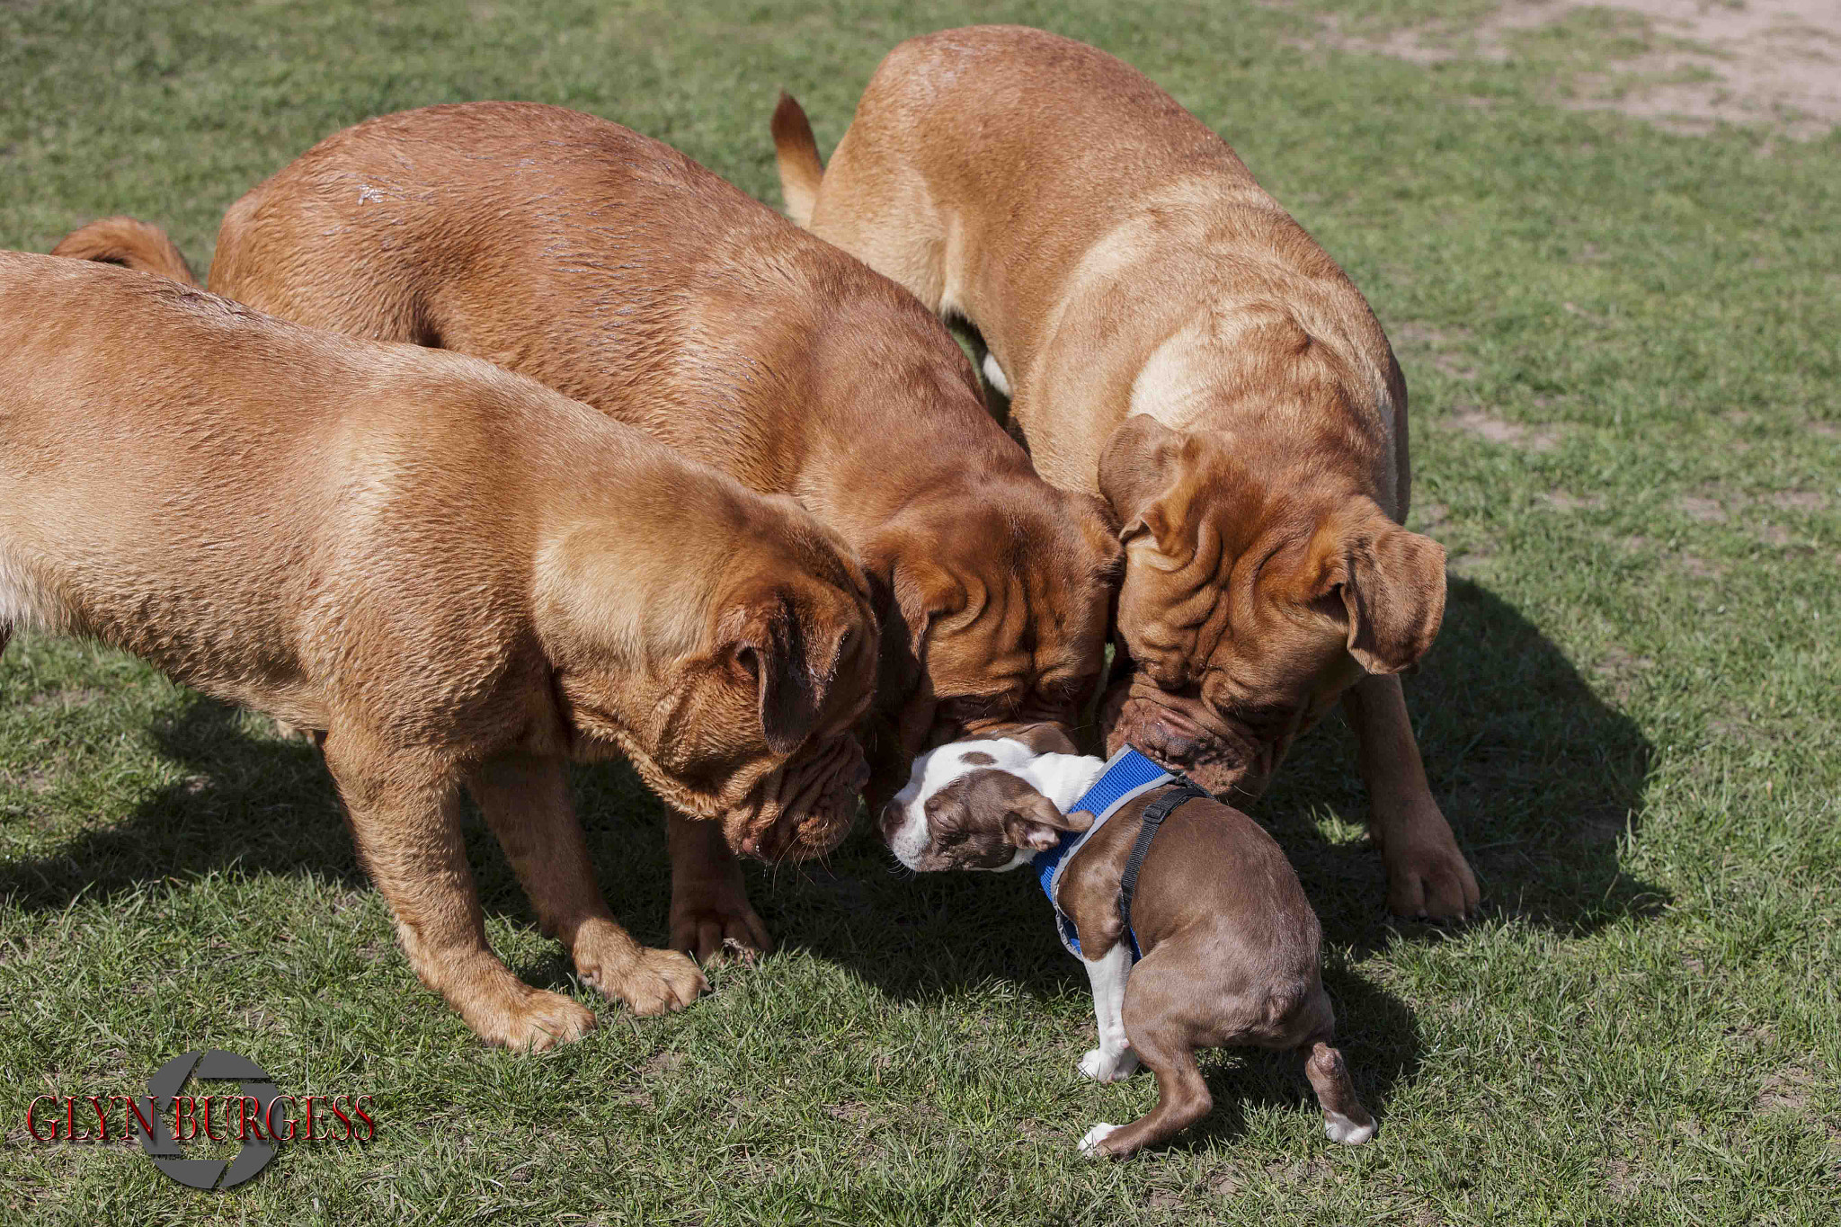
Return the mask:
<svg viewBox="0 0 1841 1227">
<path fill-rule="evenodd" d="M 1108 745 L 1254 798 L 1338 697 L 1403 914 L 1476 879 L 1397 673 L 1445 609 L 1407 519 L 1407 384 L 1360 292 L 1228 145 L 1103 52 L 1020 26 L 895 48 L 823 166 L 773 116 L 795 221 L 974 324 L 1036 469 L 1123 524 Z"/>
</svg>

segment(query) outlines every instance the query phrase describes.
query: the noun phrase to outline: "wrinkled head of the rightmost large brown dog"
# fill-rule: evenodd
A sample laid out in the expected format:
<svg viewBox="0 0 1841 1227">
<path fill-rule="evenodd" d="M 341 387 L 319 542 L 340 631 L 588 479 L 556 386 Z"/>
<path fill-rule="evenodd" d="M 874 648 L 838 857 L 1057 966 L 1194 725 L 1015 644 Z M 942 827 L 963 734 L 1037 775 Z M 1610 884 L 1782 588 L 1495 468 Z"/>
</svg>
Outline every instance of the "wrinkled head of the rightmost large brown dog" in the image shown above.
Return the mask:
<svg viewBox="0 0 1841 1227">
<path fill-rule="evenodd" d="M 1112 751 L 1252 800 L 1348 686 L 1412 668 L 1438 635 L 1443 546 L 1364 495 L 1278 493 L 1217 438 L 1145 416 L 1119 427 L 1099 480 L 1127 552 Z"/>
</svg>

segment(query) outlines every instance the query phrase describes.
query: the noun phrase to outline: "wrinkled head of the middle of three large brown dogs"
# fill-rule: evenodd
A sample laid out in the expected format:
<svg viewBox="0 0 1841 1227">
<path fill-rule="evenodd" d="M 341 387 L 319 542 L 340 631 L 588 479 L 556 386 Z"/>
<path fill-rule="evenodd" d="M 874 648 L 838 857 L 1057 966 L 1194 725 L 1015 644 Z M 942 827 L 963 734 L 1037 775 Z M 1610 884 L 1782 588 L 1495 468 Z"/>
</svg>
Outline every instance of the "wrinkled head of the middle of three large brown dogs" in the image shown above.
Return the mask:
<svg viewBox="0 0 1841 1227">
<path fill-rule="evenodd" d="M 1105 668 L 1123 570 L 1097 499 L 1040 482 L 898 519 L 869 552 L 887 576 L 871 811 L 933 745 L 1029 725 L 1071 734 Z"/>
</svg>

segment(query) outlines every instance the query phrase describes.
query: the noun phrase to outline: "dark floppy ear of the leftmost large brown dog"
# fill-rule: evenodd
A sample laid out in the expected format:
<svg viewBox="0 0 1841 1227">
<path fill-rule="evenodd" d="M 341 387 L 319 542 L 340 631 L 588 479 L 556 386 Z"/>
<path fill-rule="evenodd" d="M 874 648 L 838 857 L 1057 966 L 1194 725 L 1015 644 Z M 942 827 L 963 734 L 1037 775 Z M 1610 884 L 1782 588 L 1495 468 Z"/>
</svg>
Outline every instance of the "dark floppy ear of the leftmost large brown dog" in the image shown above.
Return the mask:
<svg viewBox="0 0 1841 1227">
<path fill-rule="evenodd" d="M 852 627 L 814 642 L 792 596 L 766 592 L 731 605 L 716 625 L 718 651 L 753 682 L 768 749 L 790 754 L 817 727 Z"/>
</svg>

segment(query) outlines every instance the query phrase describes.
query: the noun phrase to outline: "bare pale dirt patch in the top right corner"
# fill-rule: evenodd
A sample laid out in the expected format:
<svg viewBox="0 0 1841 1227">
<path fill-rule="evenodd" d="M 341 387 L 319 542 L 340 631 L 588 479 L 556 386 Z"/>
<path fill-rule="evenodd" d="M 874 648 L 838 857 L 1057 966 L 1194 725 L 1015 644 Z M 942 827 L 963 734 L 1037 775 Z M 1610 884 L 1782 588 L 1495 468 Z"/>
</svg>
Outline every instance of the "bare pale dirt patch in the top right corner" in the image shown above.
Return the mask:
<svg viewBox="0 0 1841 1227">
<path fill-rule="evenodd" d="M 1605 24 L 1604 17 L 1626 22 Z M 1414 64 L 1506 61 L 1517 44 L 1574 28 L 1605 63 L 1574 75 L 1565 103 L 1620 110 L 1673 131 L 1769 123 L 1799 138 L 1841 123 L 1841 4 L 1835 0 L 1506 0 L 1480 22 L 1366 35 L 1324 18 L 1318 44 Z"/>
</svg>

